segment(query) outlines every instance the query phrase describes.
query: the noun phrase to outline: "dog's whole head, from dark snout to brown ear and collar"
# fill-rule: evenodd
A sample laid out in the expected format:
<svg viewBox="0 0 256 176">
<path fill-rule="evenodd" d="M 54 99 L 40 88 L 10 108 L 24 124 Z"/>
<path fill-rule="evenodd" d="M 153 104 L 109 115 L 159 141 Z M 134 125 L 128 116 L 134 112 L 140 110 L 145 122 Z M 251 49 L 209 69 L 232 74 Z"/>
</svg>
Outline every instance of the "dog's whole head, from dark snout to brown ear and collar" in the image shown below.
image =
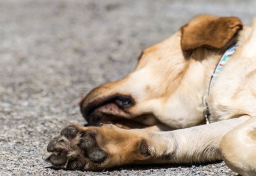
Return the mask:
<svg viewBox="0 0 256 176">
<path fill-rule="evenodd" d="M 196 16 L 170 38 L 143 50 L 126 77 L 94 88 L 80 103 L 84 118 L 89 125 L 113 123 L 128 129 L 203 123 L 202 98 L 211 73 L 241 28 L 235 17 Z"/>
</svg>

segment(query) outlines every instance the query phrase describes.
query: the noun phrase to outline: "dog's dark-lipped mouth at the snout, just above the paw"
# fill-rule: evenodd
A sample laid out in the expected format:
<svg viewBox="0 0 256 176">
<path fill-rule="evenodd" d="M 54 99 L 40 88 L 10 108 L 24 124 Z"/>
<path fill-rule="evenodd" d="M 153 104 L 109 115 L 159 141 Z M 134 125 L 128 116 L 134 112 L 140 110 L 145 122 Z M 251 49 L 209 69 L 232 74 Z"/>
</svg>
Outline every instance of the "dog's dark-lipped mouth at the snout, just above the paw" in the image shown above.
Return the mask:
<svg viewBox="0 0 256 176">
<path fill-rule="evenodd" d="M 80 108 L 89 126 L 113 124 L 123 129 L 141 129 L 155 125 L 158 120 L 152 114 L 133 115 L 129 107 L 135 105 L 130 96 L 112 95 L 106 98 L 94 100 Z"/>
</svg>

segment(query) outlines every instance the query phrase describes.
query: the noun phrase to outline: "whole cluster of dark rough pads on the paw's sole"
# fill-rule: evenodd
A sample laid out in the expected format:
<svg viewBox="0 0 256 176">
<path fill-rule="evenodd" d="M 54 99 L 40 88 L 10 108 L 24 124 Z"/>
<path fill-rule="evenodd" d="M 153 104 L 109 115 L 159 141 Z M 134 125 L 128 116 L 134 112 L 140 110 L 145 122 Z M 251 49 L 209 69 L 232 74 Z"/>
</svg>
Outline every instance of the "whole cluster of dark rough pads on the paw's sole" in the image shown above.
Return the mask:
<svg viewBox="0 0 256 176">
<path fill-rule="evenodd" d="M 74 126 L 65 127 L 60 136 L 49 142 L 47 151 L 51 154 L 46 160 L 54 167 L 72 170 L 83 170 L 92 162 L 103 162 L 108 154 L 98 147 L 95 139 L 97 134 L 97 130 L 82 131 Z"/>
</svg>

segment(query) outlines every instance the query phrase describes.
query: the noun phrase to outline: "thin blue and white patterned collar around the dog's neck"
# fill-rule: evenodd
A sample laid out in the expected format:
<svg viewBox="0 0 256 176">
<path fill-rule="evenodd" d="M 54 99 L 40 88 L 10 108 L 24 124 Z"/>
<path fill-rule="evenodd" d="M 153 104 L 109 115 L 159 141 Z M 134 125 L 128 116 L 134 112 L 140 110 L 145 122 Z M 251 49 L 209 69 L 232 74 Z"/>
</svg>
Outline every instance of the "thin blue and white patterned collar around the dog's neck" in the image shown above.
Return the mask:
<svg viewBox="0 0 256 176">
<path fill-rule="evenodd" d="M 232 45 L 229 49 L 227 49 L 225 51 L 225 53 L 223 54 L 223 56 L 221 57 L 221 59 L 219 60 L 212 76 L 211 76 L 211 80 L 210 80 L 210 84 L 208 87 L 208 92 L 207 92 L 207 96 L 209 95 L 210 92 L 210 88 L 212 86 L 212 83 L 214 82 L 214 80 L 216 79 L 216 77 L 219 75 L 219 73 L 221 72 L 223 66 L 227 63 L 227 61 L 230 60 L 232 54 L 235 52 L 236 47 L 238 46 L 238 43 Z M 209 117 L 210 117 L 210 111 L 208 108 L 208 104 L 206 102 L 206 96 L 203 97 L 203 104 L 204 104 L 204 117 L 206 118 L 206 124 L 209 124 Z"/>
</svg>

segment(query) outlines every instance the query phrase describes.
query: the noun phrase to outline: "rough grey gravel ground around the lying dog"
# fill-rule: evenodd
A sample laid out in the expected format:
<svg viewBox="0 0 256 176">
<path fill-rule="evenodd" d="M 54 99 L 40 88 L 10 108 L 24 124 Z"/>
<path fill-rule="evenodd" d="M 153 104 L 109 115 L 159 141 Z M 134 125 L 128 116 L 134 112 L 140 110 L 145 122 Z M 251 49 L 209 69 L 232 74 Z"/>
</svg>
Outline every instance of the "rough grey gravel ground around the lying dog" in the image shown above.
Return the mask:
<svg viewBox="0 0 256 176">
<path fill-rule="evenodd" d="M 0 175 L 236 175 L 221 162 L 54 170 L 42 160 L 50 138 L 83 125 L 78 102 L 120 79 L 140 51 L 199 13 L 239 16 L 256 1 L 0 0 Z"/>
</svg>

